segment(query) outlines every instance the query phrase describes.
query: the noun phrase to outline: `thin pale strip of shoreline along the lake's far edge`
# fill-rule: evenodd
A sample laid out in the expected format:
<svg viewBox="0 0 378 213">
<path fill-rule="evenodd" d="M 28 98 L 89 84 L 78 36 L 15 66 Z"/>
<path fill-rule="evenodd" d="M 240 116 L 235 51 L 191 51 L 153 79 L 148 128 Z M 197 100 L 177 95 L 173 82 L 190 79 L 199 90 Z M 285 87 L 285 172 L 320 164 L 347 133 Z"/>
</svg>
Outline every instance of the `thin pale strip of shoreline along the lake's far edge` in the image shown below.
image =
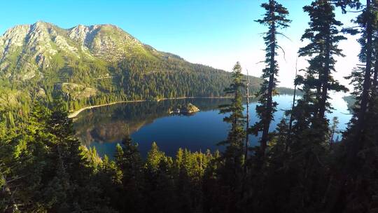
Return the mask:
<svg viewBox="0 0 378 213">
<path fill-rule="evenodd" d="M 169 100 L 169 99 L 195 99 L 195 98 L 199 98 L 199 99 L 200 98 L 203 98 L 203 99 L 211 99 L 211 98 L 226 99 L 226 98 L 232 98 L 232 97 L 169 97 L 169 98 L 162 98 L 162 99 L 156 99 L 156 100 L 141 99 L 141 100 L 134 100 L 134 101 L 111 102 L 109 104 L 99 104 L 99 105 L 80 108 L 76 111 L 69 113 L 68 118 L 76 118 L 76 116 L 78 116 L 82 111 L 85 111 L 87 109 L 94 109 L 94 108 L 98 108 L 98 107 L 106 107 L 106 106 L 110 106 L 110 105 L 113 105 L 113 104 L 126 104 L 126 103 L 137 103 L 137 102 L 148 102 L 148 101 L 160 102 L 160 101 Z"/>
</svg>

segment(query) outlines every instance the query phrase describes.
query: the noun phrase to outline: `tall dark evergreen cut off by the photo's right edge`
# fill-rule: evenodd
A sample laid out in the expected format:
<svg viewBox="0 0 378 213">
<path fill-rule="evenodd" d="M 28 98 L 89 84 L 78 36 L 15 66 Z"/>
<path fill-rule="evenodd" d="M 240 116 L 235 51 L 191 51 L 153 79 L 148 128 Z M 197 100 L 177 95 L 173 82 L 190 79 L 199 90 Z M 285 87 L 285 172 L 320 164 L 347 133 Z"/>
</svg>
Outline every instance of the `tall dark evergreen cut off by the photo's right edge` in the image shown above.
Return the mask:
<svg viewBox="0 0 378 213">
<path fill-rule="evenodd" d="M 362 1 L 360 1 L 362 3 Z M 360 6 L 349 5 L 355 8 Z M 329 207 L 335 212 L 369 212 L 377 209 L 374 196 L 377 195 L 377 99 L 375 86 L 377 77 L 374 67 L 374 55 L 377 51 L 377 1 L 364 1 L 362 13 L 354 22 L 353 29 L 346 30 L 351 34 L 360 34 L 360 62 L 363 67 L 355 69 L 349 78 L 354 85 L 353 94 L 356 96 L 356 107 L 353 107 L 353 117 L 348 129 L 344 132 L 339 173 L 342 174 L 333 185 L 337 186 L 334 193 L 330 193 Z M 344 7 L 349 1 L 342 1 Z M 349 186 L 349 187 L 345 187 Z M 342 202 L 339 202 L 342 200 Z"/>
</svg>

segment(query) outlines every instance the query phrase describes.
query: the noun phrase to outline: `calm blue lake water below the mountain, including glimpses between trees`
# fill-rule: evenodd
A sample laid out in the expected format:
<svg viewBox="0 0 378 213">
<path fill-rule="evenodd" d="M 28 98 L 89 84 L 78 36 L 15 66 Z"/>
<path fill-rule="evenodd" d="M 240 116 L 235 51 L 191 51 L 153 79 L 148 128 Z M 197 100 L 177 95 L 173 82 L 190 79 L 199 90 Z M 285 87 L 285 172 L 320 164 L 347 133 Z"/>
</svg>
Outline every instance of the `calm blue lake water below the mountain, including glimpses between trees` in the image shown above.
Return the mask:
<svg viewBox="0 0 378 213">
<path fill-rule="evenodd" d="M 337 110 L 328 117 L 337 116 L 340 122 L 338 129 L 344 130 L 351 118 L 342 99 L 344 94 L 330 96 L 332 107 Z M 293 96 L 280 95 L 274 100 L 279 106 L 271 130 L 283 117 L 283 110 L 290 109 Z M 223 150 L 216 144 L 227 137 L 230 127 L 223 122 L 225 115 L 219 114 L 218 106 L 228 102 L 230 99 L 176 99 L 114 104 L 81 112 L 74 118 L 74 128 L 80 141 L 87 146 L 95 146 L 100 156 L 112 157 L 116 144 L 127 134 L 139 144 L 142 156 L 146 156 L 152 142 L 156 142 L 169 156 L 174 156 L 180 147 L 191 151 Z M 190 116 L 168 113 L 170 108 L 188 103 L 195 104 L 201 111 Z M 256 102 L 252 100 L 249 106 L 251 124 L 257 121 L 255 106 Z M 251 136 L 250 139 L 251 145 L 257 143 L 256 137 Z"/>
</svg>

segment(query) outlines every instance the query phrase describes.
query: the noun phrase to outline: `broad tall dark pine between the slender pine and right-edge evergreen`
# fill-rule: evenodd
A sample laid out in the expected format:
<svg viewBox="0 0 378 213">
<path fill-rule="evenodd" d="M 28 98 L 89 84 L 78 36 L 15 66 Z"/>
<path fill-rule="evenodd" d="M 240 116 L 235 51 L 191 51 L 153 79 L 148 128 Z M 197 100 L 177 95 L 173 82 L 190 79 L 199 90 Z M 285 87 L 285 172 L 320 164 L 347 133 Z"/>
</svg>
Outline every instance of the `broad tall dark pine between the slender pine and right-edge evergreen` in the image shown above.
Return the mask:
<svg viewBox="0 0 378 213">
<path fill-rule="evenodd" d="M 290 195 L 287 204 L 281 205 L 298 212 L 305 209 L 316 212 L 320 208 L 318 203 L 321 203 L 321 195 L 326 191 L 323 183 L 328 180 L 328 167 L 325 164 L 328 150 L 325 148 L 329 141 L 328 120 L 325 118 L 325 113 L 330 110 L 328 93 L 330 90 L 345 89 L 332 78 L 332 71 L 335 71 L 334 57 L 342 56 L 337 43 L 344 37 L 339 36 L 337 27 L 342 23 L 335 20 L 335 8 L 330 1 L 316 0 L 303 9 L 309 13 L 310 22 L 302 41 L 307 39 L 309 44 L 300 48 L 299 55 L 309 57 L 309 67 L 304 76 L 298 75 L 295 79 L 295 84 L 302 85 L 300 90 L 303 95 L 290 112 L 294 121 L 290 142 L 287 143 L 290 147 L 285 149 L 288 152 L 283 156 L 277 150 L 282 150 L 286 144 L 281 142 L 281 139 L 287 141 L 286 124 L 281 123 L 279 137 L 276 137 L 272 153 L 269 153 L 272 155 L 269 159 L 272 160 L 269 168 L 272 171 L 269 170 L 267 179 L 271 179 L 274 186 L 274 177 L 271 176 L 277 170 L 282 171 L 276 175 L 287 179 L 291 184 L 279 186 Z M 285 171 L 290 171 L 290 175 Z M 270 184 L 267 184 L 267 187 L 270 187 Z M 271 190 L 274 191 L 274 188 Z M 276 194 L 283 195 L 280 191 Z M 301 205 L 298 205 L 298 202 L 301 202 Z"/>
</svg>

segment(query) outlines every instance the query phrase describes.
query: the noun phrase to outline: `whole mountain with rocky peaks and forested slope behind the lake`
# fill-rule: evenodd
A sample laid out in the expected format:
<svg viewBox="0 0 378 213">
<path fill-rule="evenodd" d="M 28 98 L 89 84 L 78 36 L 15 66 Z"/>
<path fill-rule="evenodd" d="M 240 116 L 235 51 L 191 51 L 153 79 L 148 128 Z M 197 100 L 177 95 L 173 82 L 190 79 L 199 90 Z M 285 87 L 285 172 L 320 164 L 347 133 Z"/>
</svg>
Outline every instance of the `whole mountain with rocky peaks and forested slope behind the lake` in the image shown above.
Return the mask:
<svg viewBox="0 0 378 213">
<path fill-rule="evenodd" d="M 262 80 L 249 78 L 256 91 Z M 70 110 L 120 100 L 216 97 L 229 83 L 229 72 L 156 50 L 114 25 L 63 29 L 36 22 L 0 36 L 2 107 L 48 102 L 55 92 L 64 94 Z"/>
</svg>

